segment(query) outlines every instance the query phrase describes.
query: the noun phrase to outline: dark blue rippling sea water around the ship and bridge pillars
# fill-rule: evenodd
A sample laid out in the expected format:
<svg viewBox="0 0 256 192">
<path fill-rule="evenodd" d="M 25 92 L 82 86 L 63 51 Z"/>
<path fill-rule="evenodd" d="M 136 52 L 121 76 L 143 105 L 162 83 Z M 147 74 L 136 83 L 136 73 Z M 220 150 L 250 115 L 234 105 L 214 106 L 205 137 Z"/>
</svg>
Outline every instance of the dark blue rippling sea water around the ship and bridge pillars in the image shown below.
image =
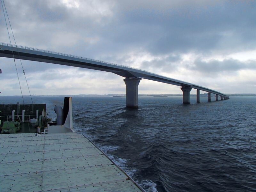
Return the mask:
<svg viewBox="0 0 256 192">
<path fill-rule="evenodd" d="M 122 97 L 74 97 L 74 127 L 146 191 L 256 191 L 256 97 L 207 99 L 140 97 L 140 108 L 129 110 Z M 63 103 L 34 100 L 49 116 Z"/>
</svg>

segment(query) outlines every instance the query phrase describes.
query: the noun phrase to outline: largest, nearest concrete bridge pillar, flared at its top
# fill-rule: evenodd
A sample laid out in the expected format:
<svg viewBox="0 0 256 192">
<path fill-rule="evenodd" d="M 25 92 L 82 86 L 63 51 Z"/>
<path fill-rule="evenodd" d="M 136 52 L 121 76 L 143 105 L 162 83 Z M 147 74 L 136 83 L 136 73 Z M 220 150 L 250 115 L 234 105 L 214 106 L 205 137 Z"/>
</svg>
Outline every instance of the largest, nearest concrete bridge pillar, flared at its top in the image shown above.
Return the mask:
<svg viewBox="0 0 256 192">
<path fill-rule="evenodd" d="M 126 85 L 126 107 L 138 108 L 139 92 L 138 85 L 141 78 L 125 78 L 124 83 Z"/>
</svg>

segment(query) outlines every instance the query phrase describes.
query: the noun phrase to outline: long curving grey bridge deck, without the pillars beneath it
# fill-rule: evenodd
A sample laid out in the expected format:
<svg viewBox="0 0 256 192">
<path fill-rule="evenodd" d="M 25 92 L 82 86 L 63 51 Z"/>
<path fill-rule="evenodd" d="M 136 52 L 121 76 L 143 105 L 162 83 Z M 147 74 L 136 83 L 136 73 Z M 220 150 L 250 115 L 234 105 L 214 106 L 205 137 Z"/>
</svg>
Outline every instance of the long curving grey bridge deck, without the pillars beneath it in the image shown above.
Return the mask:
<svg viewBox="0 0 256 192">
<path fill-rule="evenodd" d="M 223 93 L 217 92 L 215 90 L 212 90 L 200 85 L 188 83 L 178 79 L 169 78 L 166 76 L 161 76 L 161 75 L 151 73 L 145 70 L 137 69 L 137 68 L 117 65 L 114 63 L 109 63 L 105 61 L 94 60 L 94 59 L 79 57 L 75 55 L 59 53 L 59 52 L 52 52 L 52 51 L 41 50 L 41 49 L 36 49 L 31 47 L 0 43 L 0 57 L 13 58 L 13 56 L 16 59 L 22 59 L 22 60 L 32 60 L 32 61 L 39 61 L 39 62 L 46 62 L 46 63 L 55 63 L 59 65 L 67 65 L 67 66 L 73 66 L 73 67 L 107 71 L 107 72 L 115 73 L 119 76 L 123 76 L 126 78 L 139 77 L 139 78 L 144 78 L 152 81 L 158 81 L 158 82 L 182 86 L 182 87 L 189 86 L 194 89 L 211 92 L 214 94 L 218 94 L 220 96 L 227 96 Z"/>
</svg>

